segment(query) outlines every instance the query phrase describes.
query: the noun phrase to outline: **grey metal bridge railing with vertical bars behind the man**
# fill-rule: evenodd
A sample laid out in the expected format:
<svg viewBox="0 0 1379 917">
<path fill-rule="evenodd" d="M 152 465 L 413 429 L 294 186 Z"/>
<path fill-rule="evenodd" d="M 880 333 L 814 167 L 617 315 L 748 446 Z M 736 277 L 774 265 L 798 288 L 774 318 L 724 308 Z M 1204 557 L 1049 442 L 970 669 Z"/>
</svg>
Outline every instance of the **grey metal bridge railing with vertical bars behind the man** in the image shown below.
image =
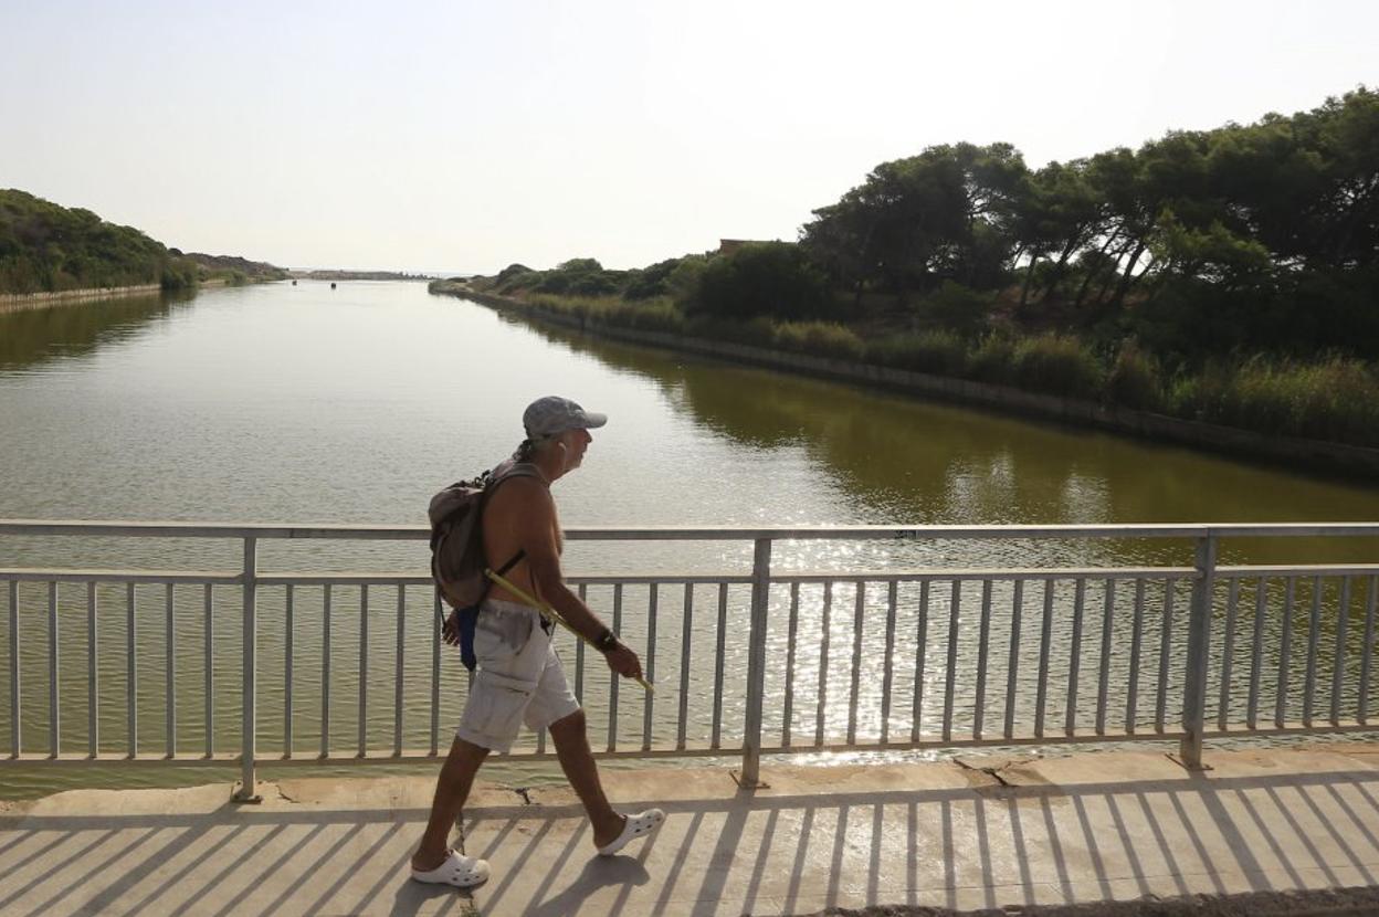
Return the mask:
<svg viewBox="0 0 1379 917">
<path fill-rule="evenodd" d="M 1176 739 L 1183 763 L 1197 768 L 1208 736 L 1376 728 L 1379 564 L 1223 567 L 1222 539 L 1376 535 L 1379 523 L 571 530 L 570 541 L 753 546 L 750 570 L 571 576 L 658 683 L 655 694 L 629 688 L 570 641 L 574 688 L 600 756 L 741 754 L 749 785 L 767 753 L 1136 738 Z M 237 761 L 239 796 L 252 798 L 256 763 L 433 757 L 443 718 L 458 716 L 467 678 L 458 659 L 443 666 L 440 603 L 427 576 L 265 572 L 258 564 L 263 542 L 425 541 L 422 527 L 0 521 L 3 536 L 232 539 L 241 557 L 239 570 L 212 572 L 0 568 L 10 645 L 4 761 Z M 1171 541 L 1193 545 L 1194 563 L 772 568 L 778 542 L 809 539 Z M 73 608 L 81 586 L 84 601 Z M 150 592 L 153 608 L 161 605 L 157 655 Z M 218 627 L 226 592 L 240 609 L 237 647 L 234 632 Z M 110 601 L 123 605 L 123 622 L 102 615 Z M 80 649 L 66 641 L 80 633 L 73 618 L 81 614 L 84 692 L 69 688 L 74 677 L 62 665 Z M 319 627 L 308 626 L 313 619 Z M 123 654 L 112 652 L 121 625 Z M 837 651 L 841 641 L 848 654 Z M 228 666 L 226 644 L 237 651 Z M 356 658 L 339 661 L 339 647 L 353 644 Z M 161 696 L 141 684 L 141 663 L 161 667 Z M 237 692 L 218 666 L 237 670 Z M 34 677 L 46 710 L 23 703 Z M 119 683 L 123 717 L 102 706 L 102 680 Z M 354 695 L 353 709 L 341 705 L 342 691 Z M 418 696 L 425 701 L 410 699 Z M 640 724 L 630 718 L 637 706 Z M 157 753 L 146 750 L 156 740 L 150 710 L 163 720 Z M 84 729 L 69 729 L 81 734 L 81 752 L 63 746 L 73 713 L 85 714 Z M 348 749 L 332 729 L 342 720 L 356 738 Z M 30 731 L 46 750 L 26 750 Z M 303 739 L 312 743 L 305 756 Z M 261 740 L 276 750 L 261 752 Z M 549 757 L 545 736 L 514 754 Z"/>
</svg>

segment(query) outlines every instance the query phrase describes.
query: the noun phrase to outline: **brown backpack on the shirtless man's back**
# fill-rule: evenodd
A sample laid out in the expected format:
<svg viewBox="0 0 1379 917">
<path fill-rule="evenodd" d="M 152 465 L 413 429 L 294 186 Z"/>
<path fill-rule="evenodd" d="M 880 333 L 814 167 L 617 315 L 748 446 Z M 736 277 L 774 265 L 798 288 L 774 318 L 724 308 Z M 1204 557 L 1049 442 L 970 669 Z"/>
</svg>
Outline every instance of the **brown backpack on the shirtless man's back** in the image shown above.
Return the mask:
<svg viewBox="0 0 1379 917">
<path fill-rule="evenodd" d="M 543 480 L 535 465 L 503 462 L 470 481 L 456 481 L 432 498 L 426 510 L 432 524 L 432 579 L 451 608 L 474 608 L 488 593 L 480 520 L 488 498 L 510 477 Z M 502 572 L 517 560 L 514 557 L 505 564 Z"/>
</svg>

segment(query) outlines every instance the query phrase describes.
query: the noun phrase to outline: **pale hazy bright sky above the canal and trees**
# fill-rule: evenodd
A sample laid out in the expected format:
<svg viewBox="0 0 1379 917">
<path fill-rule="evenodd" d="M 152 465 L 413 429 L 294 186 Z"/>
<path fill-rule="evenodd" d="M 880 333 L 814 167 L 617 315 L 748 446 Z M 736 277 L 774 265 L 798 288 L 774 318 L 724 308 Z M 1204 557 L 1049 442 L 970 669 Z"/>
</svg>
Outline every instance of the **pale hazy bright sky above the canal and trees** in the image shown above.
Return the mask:
<svg viewBox="0 0 1379 917">
<path fill-rule="evenodd" d="M 1373 0 L 0 0 L 0 188 L 290 268 L 633 268 L 934 143 L 1314 108 L 1376 36 Z"/>
</svg>

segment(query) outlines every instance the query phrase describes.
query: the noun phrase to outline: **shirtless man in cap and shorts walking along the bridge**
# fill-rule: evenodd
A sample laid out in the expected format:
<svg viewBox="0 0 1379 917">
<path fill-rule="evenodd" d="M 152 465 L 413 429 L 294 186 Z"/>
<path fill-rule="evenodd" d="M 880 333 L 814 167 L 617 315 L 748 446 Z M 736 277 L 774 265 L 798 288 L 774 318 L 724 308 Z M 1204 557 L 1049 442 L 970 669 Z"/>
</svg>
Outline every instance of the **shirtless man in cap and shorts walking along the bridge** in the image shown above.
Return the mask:
<svg viewBox="0 0 1379 917">
<path fill-rule="evenodd" d="M 560 571 L 563 538 L 550 484 L 583 462 L 590 429 L 608 422 L 574 401 L 545 397 L 523 414 L 527 439 L 513 461 L 528 465 L 512 474 L 512 463 L 495 470 L 494 491 L 484 507 L 484 563 L 506 572 L 512 585 L 549 604 L 604 654 L 608 667 L 626 678 L 641 677 L 641 661 L 618 641 L 589 607 L 567 586 Z M 455 618 L 447 622 L 447 643 L 455 643 Z M 484 600 L 474 629 L 479 672 L 450 756 L 436 782 L 430 820 L 412 855 L 412 878 L 466 888 L 488 878 L 488 863 L 450 849 L 448 838 L 465 805 L 474 774 L 490 752 L 507 752 L 523 723 L 534 731 L 550 729 L 556 756 L 593 825 L 600 855 L 611 856 L 625 844 L 645 837 L 665 819 L 661 809 L 622 815 L 608 804 L 589 738 L 585 712 L 565 681 L 550 645 L 554 625 L 523 600 L 495 585 Z"/>
</svg>

